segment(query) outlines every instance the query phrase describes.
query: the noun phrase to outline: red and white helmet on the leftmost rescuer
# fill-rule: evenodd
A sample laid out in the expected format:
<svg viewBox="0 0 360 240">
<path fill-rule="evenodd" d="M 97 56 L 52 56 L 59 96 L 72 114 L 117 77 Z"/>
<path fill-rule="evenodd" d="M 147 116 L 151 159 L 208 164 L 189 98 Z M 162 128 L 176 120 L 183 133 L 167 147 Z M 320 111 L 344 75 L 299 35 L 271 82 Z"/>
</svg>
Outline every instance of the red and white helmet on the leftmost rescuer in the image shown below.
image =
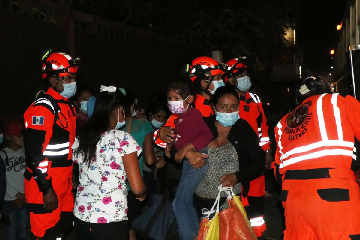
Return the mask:
<svg viewBox="0 0 360 240">
<path fill-rule="evenodd" d="M 51 76 L 65 77 L 70 74 L 77 74 L 80 58 L 72 58 L 66 53 L 52 53 L 48 50 L 41 58 L 42 64 L 42 79 L 45 79 L 48 74 Z"/>
</svg>

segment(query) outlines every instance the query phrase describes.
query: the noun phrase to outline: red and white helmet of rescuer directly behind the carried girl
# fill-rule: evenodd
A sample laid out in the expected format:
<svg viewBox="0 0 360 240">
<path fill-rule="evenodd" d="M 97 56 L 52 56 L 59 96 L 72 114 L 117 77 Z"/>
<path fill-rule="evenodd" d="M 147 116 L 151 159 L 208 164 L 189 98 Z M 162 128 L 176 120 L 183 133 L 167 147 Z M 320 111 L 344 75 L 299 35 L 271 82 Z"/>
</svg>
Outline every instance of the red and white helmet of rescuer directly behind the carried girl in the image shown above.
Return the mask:
<svg viewBox="0 0 360 240">
<path fill-rule="evenodd" d="M 206 76 L 215 76 L 216 74 L 224 74 L 226 71 L 226 64 L 219 64 L 216 60 L 207 56 L 201 56 L 195 58 L 191 64 L 186 65 L 185 72 L 189 74 L 191 81 L 193 82 L 197 76 L 204 74 Z"/>
</svg>

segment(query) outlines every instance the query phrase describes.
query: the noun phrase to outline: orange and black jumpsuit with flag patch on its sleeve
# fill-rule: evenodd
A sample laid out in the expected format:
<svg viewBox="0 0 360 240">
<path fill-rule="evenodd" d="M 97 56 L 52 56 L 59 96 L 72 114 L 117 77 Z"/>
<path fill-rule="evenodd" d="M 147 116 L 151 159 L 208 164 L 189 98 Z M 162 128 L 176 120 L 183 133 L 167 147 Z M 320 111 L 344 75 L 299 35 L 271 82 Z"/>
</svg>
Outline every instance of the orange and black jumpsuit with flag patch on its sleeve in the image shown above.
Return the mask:
<svg viewBox="0 0 360 240">
<path fill-rule="evenodd" d="M 25 197 L 30 211 L 31 231 L 36 237 L 44 239 L 61 236 L 72 226 L 71 146 L 76 134 L 75 108 L 51 87 L 46 94 L 58 104 L 51 103 L 44 98 L 46 95 L 42 95 L 24 113 L 24 148 L 28 166 L 24 173 Z M 57 107 L 60 112 L 54 123 Z M 50 187 L 59 201 L 59 207 L 53 212 L 47 212 L 43 205 L 42 194 L 47 193 Z"/>
</svg>

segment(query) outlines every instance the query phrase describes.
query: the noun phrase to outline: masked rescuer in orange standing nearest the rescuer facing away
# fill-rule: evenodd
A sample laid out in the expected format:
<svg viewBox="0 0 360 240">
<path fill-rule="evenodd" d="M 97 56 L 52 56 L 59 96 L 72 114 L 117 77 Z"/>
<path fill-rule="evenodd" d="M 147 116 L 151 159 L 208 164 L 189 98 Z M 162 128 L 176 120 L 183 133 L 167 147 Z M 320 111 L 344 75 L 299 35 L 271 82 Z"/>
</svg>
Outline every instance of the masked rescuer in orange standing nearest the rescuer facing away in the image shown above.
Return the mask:
<svg viewBox="0 0 360 240">
<path fill-rule="evenodd" d="M 270 139 L 266 124 L 266 116 L 262 108 L 260 98 L 251 92 L 251 80 L 249 77 L 247 58 L 240 57 L 228 61 L 228 72 L 224 75 L 225 82 L 236 87 L 240 96 L 239 116 L 246 120 L 259 137 L 259 144 L 265 152 L 266 166 L 271 167 L 273 158 L 271 156 Z M 245 186 L 243 190 L 246 189 Z M 242 201 L 246 206 L 246 211 L 257 237 L 264 235 L 266 223 L 264 221 L 265 212 L 265 178 L 259 175 L 256 179 L 250 181 L 248 193 L 242 191 Z"/>
</svg>

